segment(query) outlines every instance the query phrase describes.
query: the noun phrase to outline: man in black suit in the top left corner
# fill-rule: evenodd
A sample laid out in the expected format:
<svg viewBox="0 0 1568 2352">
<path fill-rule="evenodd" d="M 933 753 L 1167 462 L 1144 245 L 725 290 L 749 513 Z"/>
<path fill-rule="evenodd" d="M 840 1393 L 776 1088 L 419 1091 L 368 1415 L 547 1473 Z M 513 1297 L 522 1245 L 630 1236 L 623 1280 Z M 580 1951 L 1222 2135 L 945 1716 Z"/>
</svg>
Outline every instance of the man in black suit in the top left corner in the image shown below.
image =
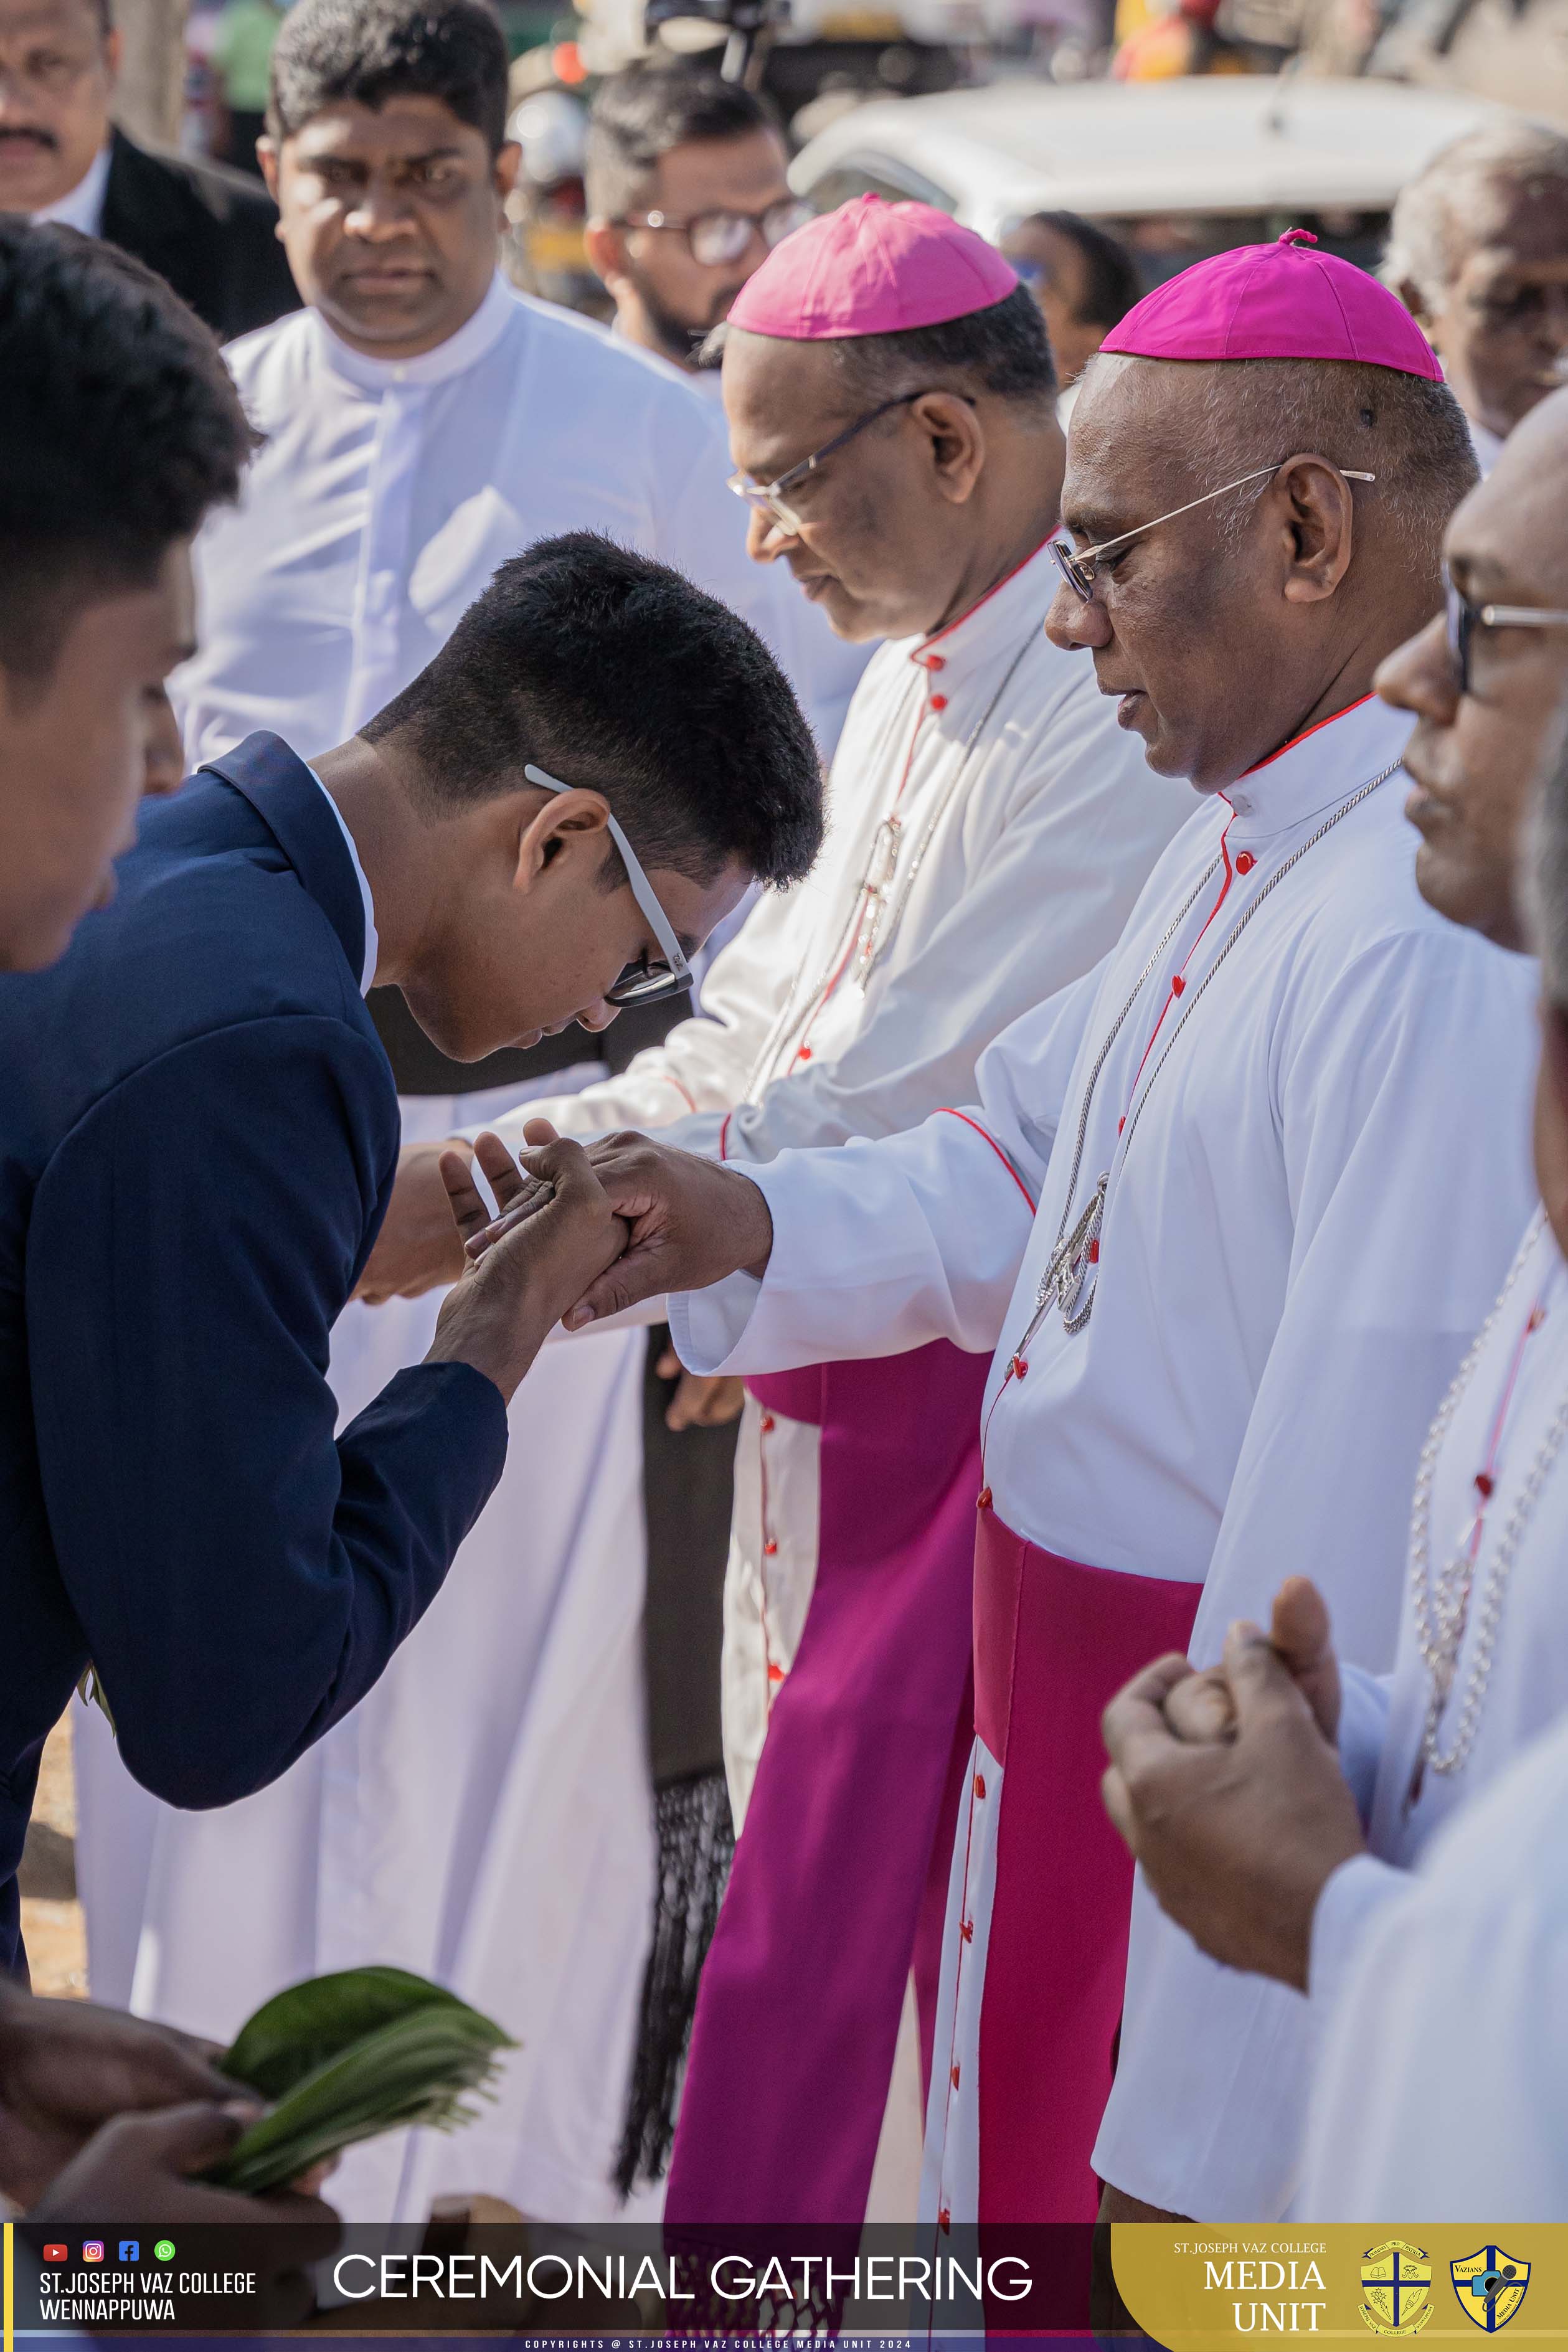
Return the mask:
<svg viewBox="0 0 1568 2352">
<path fill-rule="evenodd" d="M 221 341 L 296 310 L 270 195 L 113 129 L 118 68 L 108 0 L 0 0 L 0 212 L 136 254 Z"/>
</svg>

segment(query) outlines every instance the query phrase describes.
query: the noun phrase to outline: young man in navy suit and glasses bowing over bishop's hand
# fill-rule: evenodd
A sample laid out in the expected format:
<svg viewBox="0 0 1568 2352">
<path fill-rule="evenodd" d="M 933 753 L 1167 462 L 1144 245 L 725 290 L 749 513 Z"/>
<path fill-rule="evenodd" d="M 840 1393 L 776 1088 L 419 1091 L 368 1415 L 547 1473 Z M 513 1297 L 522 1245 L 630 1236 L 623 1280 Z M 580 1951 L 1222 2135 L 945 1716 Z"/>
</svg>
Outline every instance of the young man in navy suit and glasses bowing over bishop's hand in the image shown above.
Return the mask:
<svg viewBox="0 0 1568 2352">
<path fill-rule="evenodd" d="M 625 1240 L 559 1145 L 520 1256 L 334 1439 L 327 1341 L 397 1167 L 362 990 L 400 985 L 458 1061 L 604 1028 L 820 830 L 762 640 L 569 534 L 339 750 L 249 736 L 155 804 L 113 906 L 0 983 L 0 1966 L 78 1677 L 165 1799 L 275 1778 L 435 1599 L 508 1397 Z"/>
</svg>

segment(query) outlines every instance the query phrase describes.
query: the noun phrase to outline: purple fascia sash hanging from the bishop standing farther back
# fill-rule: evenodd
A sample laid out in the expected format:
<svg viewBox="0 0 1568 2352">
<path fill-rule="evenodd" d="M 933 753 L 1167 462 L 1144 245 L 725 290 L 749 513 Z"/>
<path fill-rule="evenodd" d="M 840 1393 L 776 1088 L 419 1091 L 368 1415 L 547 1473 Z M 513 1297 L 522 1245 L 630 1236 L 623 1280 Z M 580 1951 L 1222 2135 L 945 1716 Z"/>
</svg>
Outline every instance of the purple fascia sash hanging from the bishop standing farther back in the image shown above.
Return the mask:
<svg viewBox="0 0 1568 2352">
<path fill-rule="evenodd" d="M 860 2225 L 910 1971 L 929 2079 L 987 1369 L 933 1341 L 748 1383 L 820 1425 L 818 1573 L 703 1966 L 672 2232 Z"/>
</svg>

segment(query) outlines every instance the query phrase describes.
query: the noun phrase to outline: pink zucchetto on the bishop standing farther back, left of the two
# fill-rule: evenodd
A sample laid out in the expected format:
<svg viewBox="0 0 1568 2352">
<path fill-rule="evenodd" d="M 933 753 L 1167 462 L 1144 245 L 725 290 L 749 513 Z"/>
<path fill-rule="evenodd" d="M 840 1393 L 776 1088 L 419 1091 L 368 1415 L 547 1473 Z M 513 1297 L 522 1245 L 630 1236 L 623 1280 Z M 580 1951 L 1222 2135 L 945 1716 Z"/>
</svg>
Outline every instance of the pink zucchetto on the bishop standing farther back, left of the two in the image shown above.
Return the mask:
<svg viewBox="0 0 1568 2352">
<path fill-rule="evenodd" d="M 790 343 L 903 334 L 990 310 L 1016 285 L 1011 261 L 945 212 L 858 195 L 776 245 L 736 294 L 729 325 Z"/>
</svg>

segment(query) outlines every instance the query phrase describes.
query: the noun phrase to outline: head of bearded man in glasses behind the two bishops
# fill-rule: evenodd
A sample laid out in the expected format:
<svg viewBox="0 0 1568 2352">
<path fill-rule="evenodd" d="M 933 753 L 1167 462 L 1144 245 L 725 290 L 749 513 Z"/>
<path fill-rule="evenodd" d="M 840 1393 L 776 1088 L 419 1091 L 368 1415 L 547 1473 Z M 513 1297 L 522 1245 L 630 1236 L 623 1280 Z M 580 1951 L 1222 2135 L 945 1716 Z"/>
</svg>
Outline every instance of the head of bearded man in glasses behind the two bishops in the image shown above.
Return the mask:
<svg viewBox="0 0 1568 2352">
<path fill-rule="evenodd" d="M 616 301 L 616 334 L 691 372 L 715 400 L 703 339 L 745 280 L 811 219 L 790 191 L 778 118 L 712 66 L 628 66 L 588 115 L 588 259 Z"/>
</svg>

